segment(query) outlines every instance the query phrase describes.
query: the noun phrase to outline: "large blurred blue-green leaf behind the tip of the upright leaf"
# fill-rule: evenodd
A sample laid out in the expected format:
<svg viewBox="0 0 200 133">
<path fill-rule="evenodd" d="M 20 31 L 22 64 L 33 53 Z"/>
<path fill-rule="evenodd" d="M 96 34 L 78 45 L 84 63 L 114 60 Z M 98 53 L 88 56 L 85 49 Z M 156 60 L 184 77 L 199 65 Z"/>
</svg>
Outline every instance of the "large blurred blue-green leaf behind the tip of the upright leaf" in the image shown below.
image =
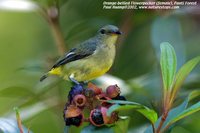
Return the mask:
<svg viewBox="0 0 200 133">
<path fill-rule="evenodd" d="M 186 60 L 186 43 L 183 39 L 182 24 L 179 18 L 173 15 L 159 16 L 155 18 L 151 25 L 151 41 L 157 58 L 160 58 L 160 43 L 164 41 L 171 43 L 176 51 L 177 68 Z"/>
</svg>

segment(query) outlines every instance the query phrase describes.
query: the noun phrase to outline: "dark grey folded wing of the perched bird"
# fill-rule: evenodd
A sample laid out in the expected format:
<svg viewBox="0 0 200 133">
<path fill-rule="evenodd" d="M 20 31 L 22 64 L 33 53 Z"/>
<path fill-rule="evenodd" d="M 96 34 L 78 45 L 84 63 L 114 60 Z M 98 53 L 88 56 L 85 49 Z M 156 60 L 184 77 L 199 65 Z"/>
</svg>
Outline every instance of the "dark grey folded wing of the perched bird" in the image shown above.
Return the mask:
<svg viewBox="0 0 200 133">
<path fill-rule="evenodd" d="M 95 50 L 96 50 L 95 42 L 88 40 L 82 43 L 81 45 L 79 45 L 79 47 L 71 49 L 68 53 L 65 54 L 63 58 L 59 59 L 53 65 L 52 68 L 56 68 L 66 63 L 86 58 L 92 55 Z"/>
</svg>

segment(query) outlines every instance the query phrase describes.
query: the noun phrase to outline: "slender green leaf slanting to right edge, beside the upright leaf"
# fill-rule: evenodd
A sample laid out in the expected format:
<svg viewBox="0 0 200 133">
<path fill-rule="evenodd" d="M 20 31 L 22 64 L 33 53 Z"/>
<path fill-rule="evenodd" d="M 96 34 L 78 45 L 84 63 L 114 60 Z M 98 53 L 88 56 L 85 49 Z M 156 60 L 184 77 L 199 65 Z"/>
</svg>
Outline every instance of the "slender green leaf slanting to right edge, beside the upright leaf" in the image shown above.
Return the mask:
<svg viewBox="0 0 200 133">
<path fill-rule="evenodd" d="M 179 90 L 180 86 L 183 84 L 186 77 L 189 75 L 189 73 L 194 69 L 194 67 L 200 62 L 200 56 L 197 56 L 193 58 L 192 60 L 188 61 L 186 64 L 184 64 L 180 70 L 178 71 L 173 87 L 172 96 L 174 97 Z"/>
</svg>

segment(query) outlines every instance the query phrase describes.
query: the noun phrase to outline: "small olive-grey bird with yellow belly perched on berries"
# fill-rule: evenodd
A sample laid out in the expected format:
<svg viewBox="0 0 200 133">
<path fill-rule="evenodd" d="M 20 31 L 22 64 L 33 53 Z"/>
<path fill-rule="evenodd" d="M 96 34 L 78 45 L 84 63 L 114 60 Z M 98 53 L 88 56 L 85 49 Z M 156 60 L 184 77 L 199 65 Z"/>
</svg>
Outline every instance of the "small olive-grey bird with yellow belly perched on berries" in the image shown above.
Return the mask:
<svg viewBox="0 0 200 133">
<path fill-rule="evenodd" d="M 102 76 L 113 65 L 115 43 L 121 34 L 117 26 L 103 26 L 94 37 L 69 50 L 40 78 L 40 81 L 50 75 L 57 75 L 79 84 Z"/>
</svg>

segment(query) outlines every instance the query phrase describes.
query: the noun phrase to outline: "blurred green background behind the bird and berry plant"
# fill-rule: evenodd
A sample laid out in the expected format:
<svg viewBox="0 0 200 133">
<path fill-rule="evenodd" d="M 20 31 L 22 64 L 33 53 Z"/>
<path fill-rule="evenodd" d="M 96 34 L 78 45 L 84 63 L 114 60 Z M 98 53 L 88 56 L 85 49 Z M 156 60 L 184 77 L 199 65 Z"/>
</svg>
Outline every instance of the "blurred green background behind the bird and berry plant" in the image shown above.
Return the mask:
<svg viewBox="0 0 200 133">
<path fill-rule="evenodd" d="M 52 0 L 35 2 L 44 8 L 52 4 Z M 123 88 L 128 89 L 125 96 L 129 101 L 160 112 L 159 45 L 167 41 L 174 46 L 178 67 L 199 55 L 200 5 L 178 10 L 104 10 L 102 3 L 60 1 L 59 24 L 67 49 L 93 36 L 103 25 L 120 27 L 124 34 L 118 40 L 116 60 L 109 71 L 113 77 L 109 78 L 123 82 L 120 87 L 122 93 Z M 56 77 L 39 82 L 58 58 L 51 26 L 38 11 L 0 10 L 0 117 L 15 118 L 13 107 L 17 106 L 23 124 L 31 131 L 63 132 L 63 108 L 70 84 Z M 200 88 L 199 72 L 198 67 L 187 78 L 177 104 L 190 91 Z M 131 117 L 131 133 L 143 132 L 149 124 L 136 112 L 126 114 Z M 171 132 L 198 133 L 199 118 L 199 112 L 191 115 Z M 74 132 L 80 130 L 72 128 Z"/>
</svg>

